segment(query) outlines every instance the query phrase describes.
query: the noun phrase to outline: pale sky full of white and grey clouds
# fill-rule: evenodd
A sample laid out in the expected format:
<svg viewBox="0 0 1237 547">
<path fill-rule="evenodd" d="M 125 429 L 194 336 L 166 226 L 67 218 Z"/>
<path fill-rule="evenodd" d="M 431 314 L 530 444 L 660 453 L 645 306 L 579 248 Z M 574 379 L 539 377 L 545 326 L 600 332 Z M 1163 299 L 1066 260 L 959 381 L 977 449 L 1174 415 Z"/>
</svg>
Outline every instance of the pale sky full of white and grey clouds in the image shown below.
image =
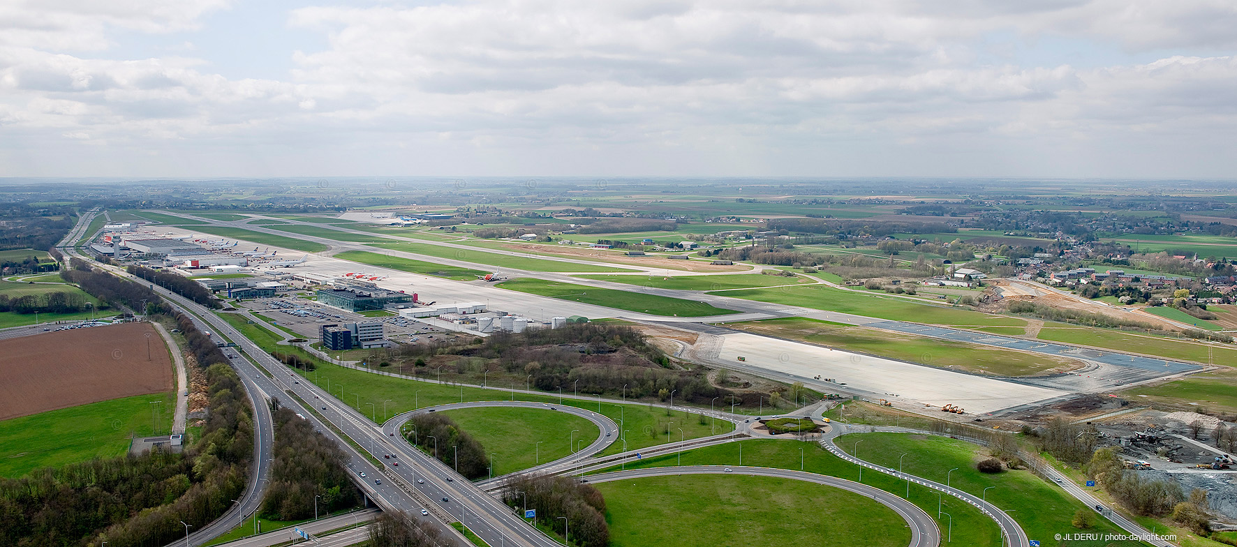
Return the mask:
<svg viewBox="0 0 1237 547">
<path fill-rule="evenodd" d="M 1232 0 L 7 0 L 0 176 L 1237 178 Z"/>
</svg>

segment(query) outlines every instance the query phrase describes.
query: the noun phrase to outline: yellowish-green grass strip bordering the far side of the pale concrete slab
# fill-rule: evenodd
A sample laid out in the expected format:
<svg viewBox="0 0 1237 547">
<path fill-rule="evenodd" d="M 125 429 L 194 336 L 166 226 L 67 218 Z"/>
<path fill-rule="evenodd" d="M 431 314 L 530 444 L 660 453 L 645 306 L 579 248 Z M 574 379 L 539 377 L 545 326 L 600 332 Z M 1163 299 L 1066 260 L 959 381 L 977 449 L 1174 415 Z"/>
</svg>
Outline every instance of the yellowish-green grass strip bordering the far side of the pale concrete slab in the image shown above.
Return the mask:
<svg viewBox="0 0 1237 547">
<path fill-rule="evenodd" d="M 1082 365 L 1066 358 L 891 333 L 803 317 L 730 323 L 727 327 L 903 361 L 999 376 L 1029 376 Z"/>
</svg>

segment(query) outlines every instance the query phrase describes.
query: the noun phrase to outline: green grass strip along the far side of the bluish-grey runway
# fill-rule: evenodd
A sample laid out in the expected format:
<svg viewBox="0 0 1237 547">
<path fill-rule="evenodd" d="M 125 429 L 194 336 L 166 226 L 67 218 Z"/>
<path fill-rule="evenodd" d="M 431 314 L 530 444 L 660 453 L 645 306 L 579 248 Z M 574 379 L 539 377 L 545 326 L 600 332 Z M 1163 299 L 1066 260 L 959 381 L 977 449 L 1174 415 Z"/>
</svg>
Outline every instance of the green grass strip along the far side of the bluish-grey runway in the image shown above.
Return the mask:
<svg viewBox="0 0 1237 547">
<path fill-rule="evenodd" d="M 915 323 L 974 327 L 1023 327 L 1027 324 L 1025 321 L 1014 317 L 992 316 L 964 308 L 922 304 L 905 298 L 876 293 L 863 295 L 823 285 L 751 288 L 726 291 L 719 295 Z"/>
</svg>

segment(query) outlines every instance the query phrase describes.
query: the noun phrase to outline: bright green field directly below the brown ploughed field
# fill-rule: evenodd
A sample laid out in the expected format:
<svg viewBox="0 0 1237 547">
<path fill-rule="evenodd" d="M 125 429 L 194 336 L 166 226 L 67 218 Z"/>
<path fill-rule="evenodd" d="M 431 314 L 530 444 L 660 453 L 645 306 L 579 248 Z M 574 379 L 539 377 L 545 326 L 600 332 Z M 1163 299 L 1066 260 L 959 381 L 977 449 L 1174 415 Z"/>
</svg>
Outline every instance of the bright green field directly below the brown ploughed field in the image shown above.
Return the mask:
<svg viewBox="0 0 1237 547">
<path fill-rule="evenodd" d="M 152 434 L 152 406 L 162 407 L 160 431 L 171 431 L 173 405 L 173 392 L 139 395 L 0 421 L 0 476 L 121 455 L 130 436 Z"/>
</svg>

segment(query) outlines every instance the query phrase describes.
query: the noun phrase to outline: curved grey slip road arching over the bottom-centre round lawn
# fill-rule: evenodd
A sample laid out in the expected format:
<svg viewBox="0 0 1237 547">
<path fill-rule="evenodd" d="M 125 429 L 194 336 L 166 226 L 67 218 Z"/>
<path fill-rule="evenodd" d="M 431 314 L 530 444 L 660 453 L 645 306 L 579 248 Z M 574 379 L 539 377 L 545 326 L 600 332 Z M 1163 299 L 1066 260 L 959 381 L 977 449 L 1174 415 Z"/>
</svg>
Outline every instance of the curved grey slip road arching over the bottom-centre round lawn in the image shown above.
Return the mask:
<svg viewBox="0 0 1237 547">
<path fill-rule="evenodd" d="M 589 483 L 609 483 L 614 480 L 625 479 L 640 479 L 647 476 L 669 476 L 669 475 L 753 475 L 753 476 L 774 476 L 778 479 L 793 479 L 803 480 L 808 483 L 821 484 L 825 486 L 839 488 L 846 491 L 858 494 L 861 496 L 871 497 L 876 502 L 892 509 L 894 512 L 902 516 L 910 527 L 910 547 L 936 547 L 940 545 L 940 530 L 936 527 L 936 521 L 931 519 L 923 509 L 917 505 L 898 497 L 894 494 L 889 494 L 884 490 L 868 486 L 866 484 L 860 484 L 850 481 L 846 479 L 839 479 L 836 476 L 818 475 L 815 473 L 795 472 L 789 469 L 772 469 L 772 468 L 750 468 L 750 467 L 724 467 L 724 465 L 684 465 L 684 467 L 667 467 L 667 468 L 648 468 L 648 469 L 632 469 L 628 472 L 612 472 L 602 473 L 597 475 L 590 475 L 588 478 Z M 1025 543 L 1023 543 L 1025 545 Z"/>
</svg>

